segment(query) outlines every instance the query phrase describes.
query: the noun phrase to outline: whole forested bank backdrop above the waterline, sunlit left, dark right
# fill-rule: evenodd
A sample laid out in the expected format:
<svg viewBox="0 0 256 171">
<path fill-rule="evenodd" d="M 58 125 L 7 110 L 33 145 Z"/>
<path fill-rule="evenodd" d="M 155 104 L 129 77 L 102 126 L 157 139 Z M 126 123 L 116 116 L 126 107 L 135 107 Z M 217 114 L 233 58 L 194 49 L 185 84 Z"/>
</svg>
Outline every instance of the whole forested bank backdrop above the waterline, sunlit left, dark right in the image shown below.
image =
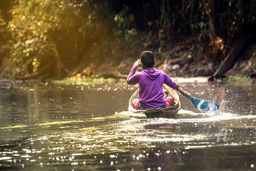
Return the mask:
<svg viewBox="0 0 256 171">
<path fill-rule="evenodd" d="M 255 77 L 256 0 L 0 0 L 0 78 Z"/>
</svg>

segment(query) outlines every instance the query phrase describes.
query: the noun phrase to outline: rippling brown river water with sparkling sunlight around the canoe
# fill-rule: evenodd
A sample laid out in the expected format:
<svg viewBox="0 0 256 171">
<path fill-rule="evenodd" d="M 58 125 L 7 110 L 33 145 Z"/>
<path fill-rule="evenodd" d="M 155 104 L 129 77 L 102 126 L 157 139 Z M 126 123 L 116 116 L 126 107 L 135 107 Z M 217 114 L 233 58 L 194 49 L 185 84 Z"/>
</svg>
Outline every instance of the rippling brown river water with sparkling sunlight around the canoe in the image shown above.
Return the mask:
<svg viewBox="0 0 256 171">
<path fill-rule="evenodd" d="M 0 170 L 255 170 L 256 83 L 182 83 L 220 105 L 134 117 L 126 83 L 0 86 Z M 189 112 L 193 111 L 193 112 Z"/>
</svg>

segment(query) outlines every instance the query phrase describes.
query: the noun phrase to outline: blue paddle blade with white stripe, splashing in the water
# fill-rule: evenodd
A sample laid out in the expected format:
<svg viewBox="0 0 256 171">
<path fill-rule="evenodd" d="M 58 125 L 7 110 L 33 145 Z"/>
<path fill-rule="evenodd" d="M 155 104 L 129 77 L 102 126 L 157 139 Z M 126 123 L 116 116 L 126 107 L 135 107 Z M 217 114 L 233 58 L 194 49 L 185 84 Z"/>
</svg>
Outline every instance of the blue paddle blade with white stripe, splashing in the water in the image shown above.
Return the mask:
<svg viewBox="0 0 256 171">
<path fill-rule="evenodd" d="M 201 100 L 197 98 L 191 99 L 194 106 L 196 106 L 197 110 L 208 112 L 208 111 L 217 111 L 219 110 L 219 105 L 213 103 L 212 101 Z"/>
</svg>

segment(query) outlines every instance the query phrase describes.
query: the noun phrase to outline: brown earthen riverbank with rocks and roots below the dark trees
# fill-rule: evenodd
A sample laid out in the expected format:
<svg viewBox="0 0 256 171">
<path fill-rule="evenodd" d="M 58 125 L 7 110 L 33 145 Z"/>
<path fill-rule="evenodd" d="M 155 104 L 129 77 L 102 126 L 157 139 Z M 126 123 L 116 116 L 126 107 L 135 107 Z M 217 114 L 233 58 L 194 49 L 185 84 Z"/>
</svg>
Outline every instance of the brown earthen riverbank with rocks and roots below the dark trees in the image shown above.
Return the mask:
<svg viewBox="0 0 256 171">
<path fill-rule="evenodd" d="M 207 39 L 198 40 L 197 36 L 177 37 L 176 41 L 162 48 L 148 48 L 140 42 L 131 50 L 131 47 L 126 45 L 114 52 L 115 58 L 111 57 L 111 54 L 101 65 L 89 67 L 89 72 L 96 77 L 124 78 L 123 75 L 129 74 L 134 61 L 139 59 L 144 50 L 153 51 L 156 60 L 155 69 L 164 71 L 170 77 L 184 78 L 212 77 L 228 55 L 227 50 L 223 49 L 222 40 L 218 40 L 213 45 Z M 138 68 L 137 71 L 142 70 Z M 256 43 L 251 43 L 244 49 L 239 59 L 234 61 L 234 65 L 221 77 L 256 78 Z"/>
</svg>

